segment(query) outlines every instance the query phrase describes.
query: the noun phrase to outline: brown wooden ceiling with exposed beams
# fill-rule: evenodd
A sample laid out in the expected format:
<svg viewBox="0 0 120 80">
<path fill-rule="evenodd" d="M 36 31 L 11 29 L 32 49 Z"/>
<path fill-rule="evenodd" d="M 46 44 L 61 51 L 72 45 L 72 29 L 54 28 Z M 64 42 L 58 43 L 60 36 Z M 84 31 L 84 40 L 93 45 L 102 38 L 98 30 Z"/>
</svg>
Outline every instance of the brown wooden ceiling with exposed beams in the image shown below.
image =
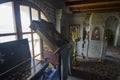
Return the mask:
<svg viewBox="0 0 120 80">
<path fill-rule="evenodd" d="M 120 0 L 65 0 L 73 13 L 120 12 Z"/>
</svg>

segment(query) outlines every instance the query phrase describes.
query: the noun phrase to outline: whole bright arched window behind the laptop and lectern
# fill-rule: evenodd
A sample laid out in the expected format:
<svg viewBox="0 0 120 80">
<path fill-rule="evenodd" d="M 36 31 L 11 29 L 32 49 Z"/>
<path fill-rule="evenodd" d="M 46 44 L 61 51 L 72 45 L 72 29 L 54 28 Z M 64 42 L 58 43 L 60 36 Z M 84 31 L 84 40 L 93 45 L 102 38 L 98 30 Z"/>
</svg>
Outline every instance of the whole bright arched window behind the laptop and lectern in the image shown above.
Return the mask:
<svg viewBox="0 0 120 80">
<path fill-rule="evenodd" d="M 41 39 L 29 27 L 32 20 L 39 19 L 47 21 L 45 14 L 27 1 L 11 0 L 0 4 L 0 43 L 27 38 L 31 56 L 40 59 Z"/>
</svg>

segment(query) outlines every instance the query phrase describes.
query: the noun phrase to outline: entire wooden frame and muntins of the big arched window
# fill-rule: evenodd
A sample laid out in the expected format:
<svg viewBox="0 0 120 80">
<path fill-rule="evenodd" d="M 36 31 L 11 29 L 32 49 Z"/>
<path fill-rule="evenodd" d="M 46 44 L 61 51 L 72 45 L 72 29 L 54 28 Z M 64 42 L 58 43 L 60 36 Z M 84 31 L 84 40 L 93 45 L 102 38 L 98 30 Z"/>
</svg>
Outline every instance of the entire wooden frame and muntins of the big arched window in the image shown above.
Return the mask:
<svg viewBox="0 0 120 80">
<path fill-rule="evenodd" d="M 31 30 L 31 32 L 22 32 L 22 25 L 21 25 L 21 16 L 20 16 L 20 6 L 28 6 L 30 9 L 30 22 L 32 21 L 32 12 L 31 9 L 36 9 L 38 11 L 38 17 L 39 19 L 41 19 L 41 12 L 44 14 L 44 12 L 35 4 L 29 2 L 29 1 L 25 1 L 25 0 L 1 0 L 0 4 L 2 3 L 6 3 L 6 2 L 12 2 L 13 3 L 13 15 L 14 15 L 14 24 L 15 24 L 15 28 L 16 28 L 16 33 L 7 33 L 7 34 L 0 34 L 0 37 L 3 36 L 12 36 L 12 35 L 16 35 L 17 38 L 16 40 L 19 39 L 23 39 L 23 35 L 24 34 L 31 34 L 32 37 L 32 51 L 33 51 L 33 58 L 38 57 L 39 55 L 41 55 L 43 57 L 43 40 L 40 38 L 40 50 L 41 53 L 34 55 L 34 38 L 33 38 L 33 34 L 35 33 L 33 30 Z M 44 14 L 45 15 L 45 14 Z M 47 18 L 47 16 L 45 15 L 45 17 Z M 48 20 L 48 18 L 47 18 Z M 42 58 L 41 57 L 41 58 Z"/>
</svg>

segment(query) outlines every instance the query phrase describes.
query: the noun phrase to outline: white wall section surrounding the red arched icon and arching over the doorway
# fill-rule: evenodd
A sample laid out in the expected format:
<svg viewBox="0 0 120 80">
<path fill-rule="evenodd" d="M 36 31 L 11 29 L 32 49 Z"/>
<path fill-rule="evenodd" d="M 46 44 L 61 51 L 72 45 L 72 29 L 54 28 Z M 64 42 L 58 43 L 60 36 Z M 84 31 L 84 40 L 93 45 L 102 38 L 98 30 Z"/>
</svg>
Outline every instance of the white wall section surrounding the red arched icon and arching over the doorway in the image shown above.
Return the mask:
<svg viewBox="0 0 120 80">
<path fill-rule="evenodd" d="M 92 13 L 92 15 L 90 17 L 90 21 L 89 21 L 89 27 L 90 27 L 89 40 L 90 40 L 90 43 L 89 43 L 88 57 L 101 58 L 102 48 L 104 46 L 103 42 L 104 42 L 104 29 L 105 29 L 106 20 L 110 16 L 115 16 L 118 20 L 120 20 L 119 14 L 120 13 Z M 101 35 L 100 35 L 101 38 L 99 41 L 91 40 L 92 30 L 96 26 L 100 26 L 100 28 L 101 28 Z M 120 25 L 118 25 L 118 27 L 120 27 Z M 117 35 L 119 35 L 119 34 L 117 34 Z"/>
</svg>

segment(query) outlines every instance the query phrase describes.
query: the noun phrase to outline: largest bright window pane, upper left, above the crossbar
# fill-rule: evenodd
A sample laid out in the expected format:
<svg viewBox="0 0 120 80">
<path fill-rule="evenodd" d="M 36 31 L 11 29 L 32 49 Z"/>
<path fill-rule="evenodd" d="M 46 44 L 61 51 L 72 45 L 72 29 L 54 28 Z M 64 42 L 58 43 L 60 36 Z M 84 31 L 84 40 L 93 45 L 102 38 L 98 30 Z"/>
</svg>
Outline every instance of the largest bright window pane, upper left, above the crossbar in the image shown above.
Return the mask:
<svg viewBox="0 0 120 80">
<path fill-rule="evenodd" d="M 16 32 L 12 2 L 0 4 L 0 34 Z"/>
</svg>

